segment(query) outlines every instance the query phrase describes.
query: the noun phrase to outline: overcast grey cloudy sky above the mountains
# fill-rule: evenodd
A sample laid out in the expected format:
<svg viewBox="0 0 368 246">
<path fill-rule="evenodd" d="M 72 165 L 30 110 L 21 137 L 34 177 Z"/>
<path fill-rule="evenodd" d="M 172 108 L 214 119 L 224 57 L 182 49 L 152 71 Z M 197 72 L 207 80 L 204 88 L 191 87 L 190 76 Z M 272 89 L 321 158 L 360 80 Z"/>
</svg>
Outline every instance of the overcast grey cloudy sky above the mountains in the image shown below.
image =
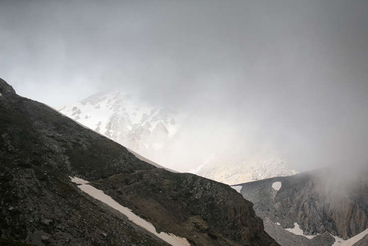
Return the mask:
<svg viewBox="0 0 368 246">
<path fill-rule="evenodd" d="M 367 1 L 2 1 L 0 77 L 52 107 L 124 87 L 300 171 L 368 166 Z"/>
</svg>

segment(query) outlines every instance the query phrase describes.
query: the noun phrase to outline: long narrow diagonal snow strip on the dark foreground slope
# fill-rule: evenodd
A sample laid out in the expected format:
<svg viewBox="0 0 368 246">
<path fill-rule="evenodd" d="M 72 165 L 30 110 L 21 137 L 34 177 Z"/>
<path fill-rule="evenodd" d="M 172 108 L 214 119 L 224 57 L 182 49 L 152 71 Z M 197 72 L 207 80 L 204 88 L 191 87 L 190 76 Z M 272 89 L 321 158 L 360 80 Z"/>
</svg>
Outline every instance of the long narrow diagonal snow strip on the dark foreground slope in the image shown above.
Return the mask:
<svg viewBox="0 0 368 246">
<path fill-rule="evenodd" d="M 191 245 L 187 241 L 187 239 L 184 237 L 175 236 L 172 233 L 166 233 L 166 232 L 157 233 L 155 227 L 150 222 L 145 221 L 144 219 L 140 218 L 139 216 L 131 212 L 130 209 L 121 206 L 115 200 L 113 200 L 109 195 L 106 195 L 105 193 L 103 193 L 102 190 L 96 189 L 95 187 L 87 184 L 89 183 L 88 181 L 85 181 L 83 179 L 76 178 L 76 177 L 74 178 L 70 177 L 70 178 L 72 179 L 72 182 L 76 181 L 77 184 L 82 182 L 82 184 L 78 185 L 78 188 L 80 188 L 82 191 L 92 196 L 94 199 L 97 199 L 107 204 L 111 208 L 116 209 L 120 213 L 126 215 L 128 219 L 133 221 L 135 224 L 145 228 L 149 232 L 155 234 L 156 236 L 170 243 L 171 245 L 173 246 L 190 246 Z"/>
</svg>

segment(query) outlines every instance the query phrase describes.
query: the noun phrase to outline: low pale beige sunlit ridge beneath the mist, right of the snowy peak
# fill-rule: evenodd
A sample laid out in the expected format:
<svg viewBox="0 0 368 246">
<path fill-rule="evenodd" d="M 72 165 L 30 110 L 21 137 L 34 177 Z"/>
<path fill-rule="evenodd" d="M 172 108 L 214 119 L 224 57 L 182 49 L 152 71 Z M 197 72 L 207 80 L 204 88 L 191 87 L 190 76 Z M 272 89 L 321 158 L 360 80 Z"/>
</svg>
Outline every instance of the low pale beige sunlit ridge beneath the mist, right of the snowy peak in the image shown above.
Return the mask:
<svg viewBox="0 0 368 246">
<path fill-rule="evenodd" d="M 198 169 L 189 172 L 229 185 L 297 173 L 289 168 L 285 158 L 265 153 L 251 157 L 217 154 Z"/>
</svg>

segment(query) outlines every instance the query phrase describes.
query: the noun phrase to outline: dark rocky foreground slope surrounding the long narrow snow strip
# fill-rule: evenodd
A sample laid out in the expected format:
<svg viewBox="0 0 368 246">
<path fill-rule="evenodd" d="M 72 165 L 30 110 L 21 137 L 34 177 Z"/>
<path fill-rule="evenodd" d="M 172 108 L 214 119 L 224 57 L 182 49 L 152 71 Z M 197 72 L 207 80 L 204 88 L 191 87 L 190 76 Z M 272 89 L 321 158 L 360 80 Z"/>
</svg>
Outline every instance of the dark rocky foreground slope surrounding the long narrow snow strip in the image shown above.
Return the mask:
<svg viewBox="0 0 368 246">
<path fill-rule="evenodd" d="M 191 245 L 278 245 L 225 184 L 172 173 L 0 80 L 0 230 L 36 245 L 168 245 L 82 192 L 79 177 Z"/>
</svg>

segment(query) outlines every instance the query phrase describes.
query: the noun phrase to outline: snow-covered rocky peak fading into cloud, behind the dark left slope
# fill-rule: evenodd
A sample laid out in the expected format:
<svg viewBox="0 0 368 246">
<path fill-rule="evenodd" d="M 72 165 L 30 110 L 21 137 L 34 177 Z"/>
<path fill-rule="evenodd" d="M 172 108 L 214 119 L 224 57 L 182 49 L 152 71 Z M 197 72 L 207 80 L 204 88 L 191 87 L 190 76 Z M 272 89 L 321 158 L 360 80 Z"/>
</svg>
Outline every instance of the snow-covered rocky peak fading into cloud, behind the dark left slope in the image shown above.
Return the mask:
<svg viewBox="0 0 368 246">
<path fill-rule="evenodd" d="M 151 160 L 188 115 L 153 106 L 123 90 L 99 92 L 55 109 Z"/>
</svg>

